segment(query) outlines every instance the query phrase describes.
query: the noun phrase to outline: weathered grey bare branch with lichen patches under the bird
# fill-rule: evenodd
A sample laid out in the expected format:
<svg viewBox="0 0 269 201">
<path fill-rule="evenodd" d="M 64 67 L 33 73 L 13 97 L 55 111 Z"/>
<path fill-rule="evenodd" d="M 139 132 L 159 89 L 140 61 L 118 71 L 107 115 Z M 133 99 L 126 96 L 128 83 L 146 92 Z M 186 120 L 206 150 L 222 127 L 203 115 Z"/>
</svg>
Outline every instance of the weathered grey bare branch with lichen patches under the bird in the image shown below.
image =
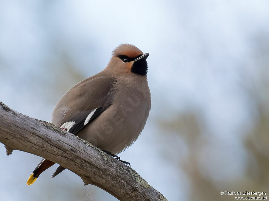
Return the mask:
<svg viewBox="0 0 269 201">
<path fill-rule="evenodd" d="M 137 172 L 89 142 L 59 127 L 18 113 L 0 102 L 0 142 L 60 164 L 81 177 L 84 184 L 104 189 L 119 200 L 166 198 Z"/>
</svg>

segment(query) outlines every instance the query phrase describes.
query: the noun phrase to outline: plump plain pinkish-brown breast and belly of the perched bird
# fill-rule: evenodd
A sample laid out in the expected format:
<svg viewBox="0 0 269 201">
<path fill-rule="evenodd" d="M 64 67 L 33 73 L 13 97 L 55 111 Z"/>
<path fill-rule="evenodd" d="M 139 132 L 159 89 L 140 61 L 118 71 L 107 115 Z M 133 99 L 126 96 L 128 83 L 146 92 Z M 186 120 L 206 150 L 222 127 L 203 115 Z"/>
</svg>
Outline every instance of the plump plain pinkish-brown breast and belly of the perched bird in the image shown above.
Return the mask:
<svg viewBox="0 0 269 201">
<path fill-rule="evenodd" d="M 129 147 L 142 132 L 149 116 L 151 99 L 147 84 L 127 82 L 114 87 L 111 106 L 78 136 L 116 154 Z"/>
</svg>

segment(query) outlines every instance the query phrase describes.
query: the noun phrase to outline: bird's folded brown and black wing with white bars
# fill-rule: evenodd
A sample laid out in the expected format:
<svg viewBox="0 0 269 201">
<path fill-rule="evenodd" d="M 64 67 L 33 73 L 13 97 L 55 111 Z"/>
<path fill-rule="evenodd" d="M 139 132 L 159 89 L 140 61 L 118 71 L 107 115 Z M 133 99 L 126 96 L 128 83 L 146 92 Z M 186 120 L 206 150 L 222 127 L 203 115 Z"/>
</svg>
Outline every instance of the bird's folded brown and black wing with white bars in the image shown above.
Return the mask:
<svg viewBox="0 0 269 201">
<path fill-rule="evenodd" d="M 55 106 L 52 123 L 76 135 L 112 102 L 113 77 L 88 78 L 71 88 Z"/>
</svg>

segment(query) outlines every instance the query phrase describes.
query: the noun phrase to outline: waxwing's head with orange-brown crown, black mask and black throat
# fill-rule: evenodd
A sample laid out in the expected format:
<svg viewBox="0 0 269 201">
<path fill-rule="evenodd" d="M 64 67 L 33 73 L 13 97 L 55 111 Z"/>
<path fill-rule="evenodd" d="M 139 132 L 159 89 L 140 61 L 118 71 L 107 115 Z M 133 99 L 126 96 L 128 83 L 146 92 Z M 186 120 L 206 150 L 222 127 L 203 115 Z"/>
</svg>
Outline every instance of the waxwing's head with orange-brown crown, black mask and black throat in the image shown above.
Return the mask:
<svg viewBox="0 0 269 201">
<path fill-rule="evenodd" d="M 121 44 L 112 52 L 112 57 L 107 68 L 116 74 L 137 74 L 146 76 L 148 71 L 149 53 L 143 52 L 136 46 Z"/>
</svg>

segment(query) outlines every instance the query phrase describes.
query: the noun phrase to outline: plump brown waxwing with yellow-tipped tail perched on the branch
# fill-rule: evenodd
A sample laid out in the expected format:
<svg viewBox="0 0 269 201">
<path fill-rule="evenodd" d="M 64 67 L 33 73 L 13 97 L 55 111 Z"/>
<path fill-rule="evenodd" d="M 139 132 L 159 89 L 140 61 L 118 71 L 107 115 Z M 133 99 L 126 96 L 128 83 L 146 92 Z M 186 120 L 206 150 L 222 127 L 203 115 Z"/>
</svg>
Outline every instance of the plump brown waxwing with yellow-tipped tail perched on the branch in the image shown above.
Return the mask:
<svg viewBox="0 0 269 201">
<path fill-rule="evenodd" d="M 148 56 L 131 44 L 117 46 L 103 71 L 64 94 L 53 109 L 51 123 L 120 160 L 117 154 L 137 140 L 149 116 Z M 27 185 L 54 164 L 43 158 Z M 64 169 L 59 166 L 52 178 Z"/>
</svg>

